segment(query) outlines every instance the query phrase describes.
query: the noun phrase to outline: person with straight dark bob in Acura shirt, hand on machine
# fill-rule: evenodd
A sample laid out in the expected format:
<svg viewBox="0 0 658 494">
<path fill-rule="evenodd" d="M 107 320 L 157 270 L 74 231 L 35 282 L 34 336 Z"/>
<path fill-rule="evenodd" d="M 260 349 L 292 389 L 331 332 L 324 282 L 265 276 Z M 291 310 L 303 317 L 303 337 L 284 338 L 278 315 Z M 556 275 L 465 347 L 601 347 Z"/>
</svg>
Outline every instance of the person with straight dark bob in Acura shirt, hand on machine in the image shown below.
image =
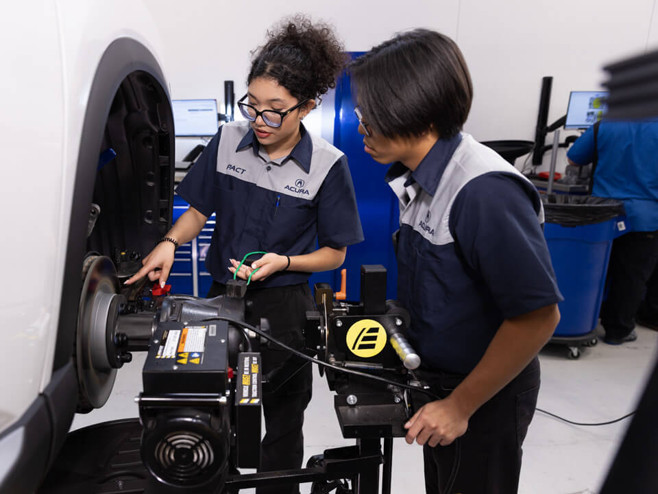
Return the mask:
<svg viewBox="0 0 658 494">
<path fill-rule="evenodd" d="M 349 70 L 365 152 L 393 163 L 398 298 L 423 362 L 417 375 L 441 397 L 406 423 L 406 441 L 424 447 L 428 493 L 515 493 L 539 392 L 537 352 L 562 300 L 539 194 L 460 132 L 473 89 L 447 36 L 398 34 Z"/>
</svg>

